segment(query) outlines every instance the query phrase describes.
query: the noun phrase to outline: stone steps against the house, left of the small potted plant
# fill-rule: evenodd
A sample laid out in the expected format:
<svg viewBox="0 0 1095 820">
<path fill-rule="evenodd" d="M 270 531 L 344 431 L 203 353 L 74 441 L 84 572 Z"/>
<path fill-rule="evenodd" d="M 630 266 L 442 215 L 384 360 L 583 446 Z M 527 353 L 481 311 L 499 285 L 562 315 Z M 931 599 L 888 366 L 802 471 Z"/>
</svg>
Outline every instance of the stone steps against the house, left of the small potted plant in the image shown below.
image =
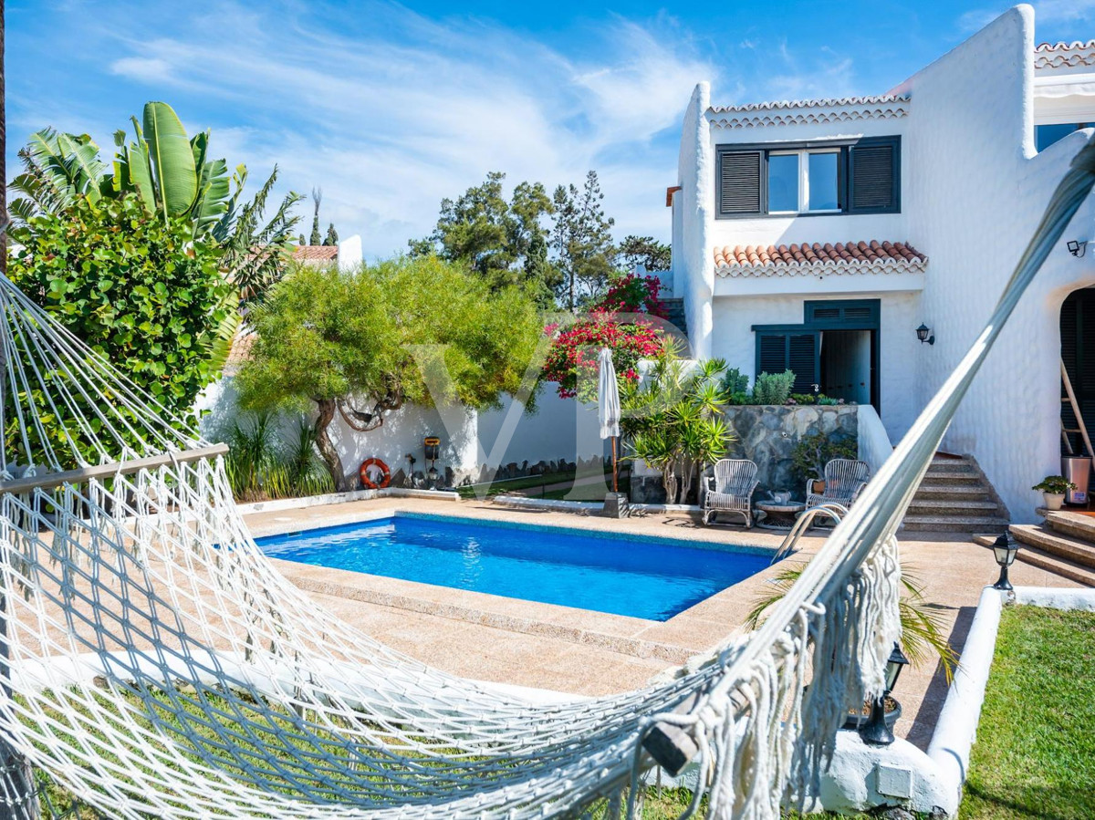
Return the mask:
<svg viewBox="0 0 1095 820">
<path fill-rule="evenodd" d="M 972 458 L 936 455 L 901 527 L 912 532 L 999 535 L 1007 523 L 1007 510 Z"/>
</svg>

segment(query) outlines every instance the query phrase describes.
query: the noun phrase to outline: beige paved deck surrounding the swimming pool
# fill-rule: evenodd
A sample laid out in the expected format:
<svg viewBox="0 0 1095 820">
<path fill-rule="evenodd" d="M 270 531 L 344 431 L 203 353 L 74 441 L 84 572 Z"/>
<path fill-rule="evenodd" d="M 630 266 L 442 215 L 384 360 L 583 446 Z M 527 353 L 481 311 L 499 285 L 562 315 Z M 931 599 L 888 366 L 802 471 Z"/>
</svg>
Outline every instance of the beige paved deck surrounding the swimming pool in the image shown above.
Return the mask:
<svg viewBox="0 0 1095 820">
<path fill-rule="evenodd" d="M 595 532 L 653 535 L 696 545 L 774 551 L 780 533 L 740 527 L 701 527 L 685 512 L 633 516 L 523 510 L 479 500 L 382 498 L 301 509 L 255 512 L 245 520 L 255 536 L 367 520 L 394 512 L 460 516 L 508 523 L 569 527 Z M 817 532 L 817 531 L 815 531 Z M 904 566 L 960 651 L 982 587 L 996 577 L 991 553 L 971 541 L 930 534 L 899 536 Z M 626 541 L 621 541 L 625 545 Z M 814 555 L 822 538 L 804 538 L 792 562 Z M 756 599 L 785 563 L 758 573 L 666 622 L 449 589 L 342 569 L 275 561 L 320 604 L 412 657 L 477 680 L 601 695 L 643 686 L 652 677 L 710 651 L 740 632 Z M 1012 567 L 1016 585 L 1075 587 L 1027 564 Z M 925 748 L 946 694 L 937 663 L 906 670 L 896 695 L 902 718 L 895 729 Z"/>
</svg>

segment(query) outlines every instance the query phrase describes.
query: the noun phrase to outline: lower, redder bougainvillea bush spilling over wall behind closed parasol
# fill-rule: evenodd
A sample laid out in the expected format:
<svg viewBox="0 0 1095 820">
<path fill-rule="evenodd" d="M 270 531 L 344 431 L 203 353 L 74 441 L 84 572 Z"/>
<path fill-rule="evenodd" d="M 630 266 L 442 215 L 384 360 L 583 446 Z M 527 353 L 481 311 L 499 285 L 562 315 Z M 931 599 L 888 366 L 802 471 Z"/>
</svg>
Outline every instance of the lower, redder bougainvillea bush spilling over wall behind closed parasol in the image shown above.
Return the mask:
<svg viewBox="0 0 1095 820">
<path fill-rule="evenodd" d="M 638 381 L 639 359 L 654 359 L 665 351 L 666 337 L 660 330 L 618 320 L 615 312 L 591 311 L 588 319 L 564 331 L 557 325 L 544 328 L 544 333 L 555 334 L 544 378 L 558 383 L 561 397 L 597 401 L 597 356 L 602 347 L 612 350 L 616 378 L 632 382 Z"/>
</svg>

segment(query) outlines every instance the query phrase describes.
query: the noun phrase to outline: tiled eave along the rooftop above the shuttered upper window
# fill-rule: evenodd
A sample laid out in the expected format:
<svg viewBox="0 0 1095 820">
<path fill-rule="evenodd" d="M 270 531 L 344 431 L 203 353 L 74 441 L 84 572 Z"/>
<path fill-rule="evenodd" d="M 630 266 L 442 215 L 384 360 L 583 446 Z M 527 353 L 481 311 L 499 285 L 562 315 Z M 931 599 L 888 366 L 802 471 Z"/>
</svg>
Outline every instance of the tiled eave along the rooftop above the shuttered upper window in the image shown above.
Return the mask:
<svg viewBox="0 0 1095 820">
<path fill-rule="evenodd" d="M 793 100 L 748 105 L 713 105 L 707 116 L 724 128 L 803 123 L 840 123 L 850 119 L 891 119 L 909 113 L 908 94 Z"/>
</svg>

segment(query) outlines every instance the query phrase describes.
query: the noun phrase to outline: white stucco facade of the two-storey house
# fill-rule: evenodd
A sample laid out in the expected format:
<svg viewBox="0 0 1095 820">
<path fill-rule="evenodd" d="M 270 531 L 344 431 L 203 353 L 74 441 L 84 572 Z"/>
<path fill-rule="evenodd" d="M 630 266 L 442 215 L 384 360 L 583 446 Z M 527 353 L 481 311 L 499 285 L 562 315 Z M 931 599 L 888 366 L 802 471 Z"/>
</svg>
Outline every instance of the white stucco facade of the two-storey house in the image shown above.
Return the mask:
<svg viewBox="0 0 1095 820">
<path fill-rule="evenodd" d="M 685 245 L 675 249 L 675 259 L 690 261 L 678 272 L 689 277 L 680 284 L 687 299 L 707 298 L 715 245 L 898 240 L 929 257 L 926 272 L 915 275 L 919 282 L 890 281 L 896 291 L 889 293 L 872 293 L 861 277 L 716 279 L 710 325 L 693 325 L 692 315 L 702 310 L 688 305 L 693 353 L 724 356 L 751 372 L 751 325 L 802 322 L 806 294 L 879 296 L 881 418 L 891 439 L 903 435 L 983 326 L 1053 187 L 1090 136 L 1079 132 L 1035 153 L 1036 122 L 1091 118 L 1095 73 L 1082 65 L 1036 71 L 1034 42 L 1033 10 L 1012 9 L 894 89 L 909 96 L 904 116 L 842 120 L 832 106 L 820 106 L 829 122 L 817 122 L 782 108 L 763 124 L 729 128 L 717 122 L 723 115 L 706 112 L 710 122 L 699 129 L 706 130 L 704 146 L 694 143 L 693 95 L 681 194 L 693 201 L 705 196 L 710 204 L 684 210 L 679 236 L 675 231 L 675 242 Z M 689 194 L 690 183 L 696 192 L 714 185 L 721 143 L 891 134 L 902 138 L 899 215 L 724 220 L 714 218 L 713 189 Z M 687 153 L 705 161 L 690 165 Z M 706 177 L 683 173 L 693 168 Z M 1029 487 L 1060 471 L 1060 305 L 1072 290 L 1095 285 L 1095 251 L 1074 258 L 1064 242 L 1093 238 L 1095 204 L 1088 200 L 996 343 L 943 443 L 978 459 L 1016 521 L 1034 520 L 1039 498 Z M 935 334 L 934 346 L 915 340 L 921 322 Z"/>
</svg>

